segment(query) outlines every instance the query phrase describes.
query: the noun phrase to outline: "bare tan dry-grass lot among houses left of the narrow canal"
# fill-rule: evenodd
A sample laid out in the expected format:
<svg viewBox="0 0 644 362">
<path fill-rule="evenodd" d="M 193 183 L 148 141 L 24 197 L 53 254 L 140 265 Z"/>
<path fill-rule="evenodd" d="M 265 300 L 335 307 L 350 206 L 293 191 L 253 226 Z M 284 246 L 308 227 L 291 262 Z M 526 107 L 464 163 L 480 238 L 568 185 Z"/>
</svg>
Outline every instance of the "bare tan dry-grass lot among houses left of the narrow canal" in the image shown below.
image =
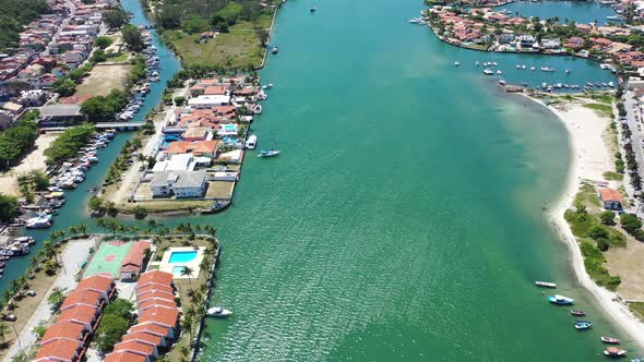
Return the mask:
<svg viewBox="0 0 644 362">
<path fill-rule="evenodd" d="M 76 96 L 107 96 L 111 89 L 126 88 L 126 81 L 132 65 L 96 64 L 87 77 L 76 87 Z"/>
</svg>

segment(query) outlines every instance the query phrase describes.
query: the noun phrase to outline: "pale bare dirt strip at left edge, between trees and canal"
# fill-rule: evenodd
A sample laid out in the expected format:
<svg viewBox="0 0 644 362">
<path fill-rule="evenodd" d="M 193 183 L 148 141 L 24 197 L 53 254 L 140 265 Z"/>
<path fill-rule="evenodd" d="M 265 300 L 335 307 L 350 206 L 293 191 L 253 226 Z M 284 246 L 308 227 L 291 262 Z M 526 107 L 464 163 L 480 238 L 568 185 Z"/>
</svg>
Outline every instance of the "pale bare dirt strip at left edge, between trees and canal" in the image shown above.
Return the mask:
<svg viewBox="0 0 644 362">
<path fill-rule="evenodd" d="M 47 166 L 45 165 L 45 155 L 43 153 L 49 145 L 58 138 L 59 133 L 46 133 L 40 134 L 36 138 L 34 149 L 25 157 L 16 167 L 12 168 L 7 172 L 0 173 L 0 184 L 2 185 L 2 193 L 12 196 L 21 196 L 20 186 L 17 184 L 17 177 L 31 172 L 33 170 L 44 171 Z"/>
</svg>

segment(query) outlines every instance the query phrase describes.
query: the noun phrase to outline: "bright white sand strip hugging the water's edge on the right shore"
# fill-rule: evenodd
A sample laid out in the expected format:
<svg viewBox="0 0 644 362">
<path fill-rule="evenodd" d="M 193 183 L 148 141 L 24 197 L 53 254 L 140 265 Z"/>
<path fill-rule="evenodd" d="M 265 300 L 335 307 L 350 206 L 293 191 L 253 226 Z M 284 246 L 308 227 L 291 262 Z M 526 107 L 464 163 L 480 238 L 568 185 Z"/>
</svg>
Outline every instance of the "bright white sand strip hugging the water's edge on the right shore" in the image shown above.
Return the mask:
<svg viewBox="0 0 644 362">
<path fill-rule="evenodd" d="M 586 273 L 584 267 L 584 258 L 582 252 L 577 245 L 576 239 L 572 233 L 568 221 L 565 221 L 563 214 L 568 208 L 572 206 L 574 197 L 581 186 L 581 180 L 588 178 L 588 174 L 594 173 L 591 171 L 593 167 L 597 166 L 597 159 L 592 159 L 593 156 L 586 153 L 586 149 L 597 147 L 596 144 L 588 144 L 588 132 L 596 130 L 581 130 L 577 126 L 580 122 L 575 114 L 570 112 L 562 112 L 552 107 L 546 106 L 542 101 L 528 97 L 526 98 L 544 106 L 546 109 L 551 111 L 557 118 L 565 125 L 571 143 L 572 155 L 569 168 L 568 178 L 565 181 L 565 188 L 563 193 L 557 200 L 549 210 L 549 215 L 552 218 L 557 231 L 561 234 L 561 238 L 568 245 L 570 252 L 570 260 L 572 262 L 572 268 L 580 283 L 593 294 L 600 307 L 609 315 L 609 317 L 618 324 L 630 337 L 641 347 L 644 348 L 644 324 L 633 315 L 629 310 L 628 305 L 617 301 L 617 293 L 611 292 L 605 288 L 597 286 Z M 581 107 L 580 105 L 571 105 L 572 107 Z M 576 128 L 576 129 L 575 129 Z M 586 133 L 586 134 L 584 134 Z M 597 135 L 595 135 L 597 136 Z M 599 135 L 600 137 L 600 135 Z M 585 141 L 585 143 L 584 143 Z M 605 169 L 609 170 L 609 169 Z M 596 173 L 596 172 L 595 172 Z M 595 180 L 600 180 L 595 178 Z"/>
</svg>

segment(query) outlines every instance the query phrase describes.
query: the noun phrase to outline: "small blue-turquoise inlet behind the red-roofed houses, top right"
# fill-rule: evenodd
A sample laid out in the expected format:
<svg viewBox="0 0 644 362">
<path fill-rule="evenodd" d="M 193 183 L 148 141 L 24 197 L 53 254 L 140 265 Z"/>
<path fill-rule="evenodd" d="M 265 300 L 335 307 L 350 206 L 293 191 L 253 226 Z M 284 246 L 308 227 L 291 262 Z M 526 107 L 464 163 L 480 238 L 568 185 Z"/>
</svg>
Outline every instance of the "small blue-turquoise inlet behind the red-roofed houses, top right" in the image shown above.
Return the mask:
<svg viewBox="0 0 644 362">
<path fill-rule="evenodd" d="M 513 15 L 518 12 L 523 16 L 539 16 L 541 20 L 559 17 L 560 22 L 570 20 L 580 24 L 597 21 L 600 25 L 608 22 L 606 16 L 617 14 L 609 5 L 592 1 L 516 1 L 496 9 L 506 9 Z"/>
</svg>

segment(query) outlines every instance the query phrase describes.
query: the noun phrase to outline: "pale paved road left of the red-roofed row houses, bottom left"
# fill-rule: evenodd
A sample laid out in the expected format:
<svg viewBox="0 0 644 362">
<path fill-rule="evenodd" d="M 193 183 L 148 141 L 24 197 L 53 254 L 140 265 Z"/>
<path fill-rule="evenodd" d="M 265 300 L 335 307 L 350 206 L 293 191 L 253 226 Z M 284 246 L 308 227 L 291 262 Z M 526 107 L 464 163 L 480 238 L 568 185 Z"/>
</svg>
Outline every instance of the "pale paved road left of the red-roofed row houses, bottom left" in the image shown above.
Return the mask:
<svg viewBox="0 0 644 362">
<path fill-rule="evenodd" d="M 51 294 L 53 288 L 58 287 L 70 291 L 76 287 L 76 272 L 81 267 L 81 264 L 90 256 L 90 249 L 94 245 L 94 237 L 87 240 L 74 240 L 69 242 L 65 249 L 62 251 L 60 256 L 60 261 L 62 261 L 62 269 L 60 270 L 60 275 L 58 278 L 56 278 L 45 294 L 45 298 L 40 304 L 38 304 L 36 311 L 34 314 L 32 314 L 32 317 L 20 333 L 19 338 L 22 346 L 27 348 L 28 346 L 32 346 L 34 342 L 36 342 L 36 335 L 32 330 L 34 330 L 34 327 L 38 326 L 40 322 L 48 321 L 51 317 L 51 307 L 47 299 L 49 298 L 49 294 Z M 19 343 L 13 343 L 9 349 L 9 353 L 7 353 L 4 357 L 4 361 L 11 361 L 11 359 L 20 351 L 21 348 Z"/>
</svg>

